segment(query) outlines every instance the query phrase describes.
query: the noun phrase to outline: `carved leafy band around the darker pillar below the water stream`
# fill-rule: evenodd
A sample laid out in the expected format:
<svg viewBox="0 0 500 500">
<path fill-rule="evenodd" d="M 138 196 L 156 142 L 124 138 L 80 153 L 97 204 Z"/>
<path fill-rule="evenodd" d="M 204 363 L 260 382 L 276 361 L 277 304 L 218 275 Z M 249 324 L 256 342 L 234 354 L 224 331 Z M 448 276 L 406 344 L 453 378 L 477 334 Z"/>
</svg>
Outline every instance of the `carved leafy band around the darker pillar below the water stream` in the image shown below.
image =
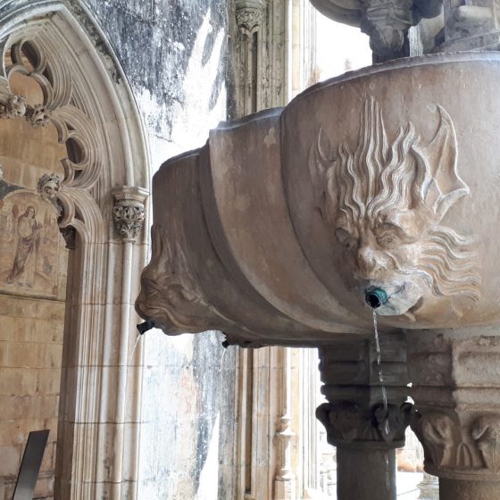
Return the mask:
<svg viewBox="0 0 500 500">
<path fill-rule="evenodd" d="M 346 446 L 356 441 L 375 442 L 391 447 L 402 446 L 404 431 L 410 424 L 412 404 L 374 406 L 371 412 L 352 402 L 321 404 L 316 418 L 327 430 L 330 445 Z"/>
</svg>

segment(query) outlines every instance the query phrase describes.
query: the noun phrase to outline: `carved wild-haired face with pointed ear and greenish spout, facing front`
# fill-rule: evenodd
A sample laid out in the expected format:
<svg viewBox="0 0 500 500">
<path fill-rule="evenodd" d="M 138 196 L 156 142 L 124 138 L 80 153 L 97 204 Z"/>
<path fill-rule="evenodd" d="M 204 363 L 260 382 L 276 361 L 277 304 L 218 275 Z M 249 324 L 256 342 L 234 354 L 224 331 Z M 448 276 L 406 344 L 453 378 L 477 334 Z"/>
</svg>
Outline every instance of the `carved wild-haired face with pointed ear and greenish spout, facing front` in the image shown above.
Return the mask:
<svg viewBox="0 0 500 500">
<path fill-rule="evenodd" d="M 424 143 L 412 123 L 391 142 L 379 104 L 369 98 L 361 113 L 355 150 L 312 146 L 322 179 L 321 215 L 342 246 L 358 293 L 377 312 L 416 311 L 430 297 L 479 299 L 471 238 L 441 224 L 469 187 L 457 172 L 456 137 L 448 113 Z M 320 174 L 320 175 L 318 175 Z"/>
</svg>

